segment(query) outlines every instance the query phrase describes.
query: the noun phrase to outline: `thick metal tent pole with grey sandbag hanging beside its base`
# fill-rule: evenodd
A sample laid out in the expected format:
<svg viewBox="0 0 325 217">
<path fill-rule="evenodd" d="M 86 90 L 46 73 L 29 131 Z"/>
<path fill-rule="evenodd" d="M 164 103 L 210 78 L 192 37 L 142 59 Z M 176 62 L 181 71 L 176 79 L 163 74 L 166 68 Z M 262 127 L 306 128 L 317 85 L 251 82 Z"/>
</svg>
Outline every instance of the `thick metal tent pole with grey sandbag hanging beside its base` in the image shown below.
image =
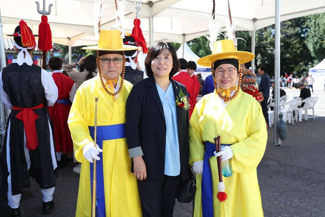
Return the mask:
<svg viewBox="0 0 325 217">
<path fill-rule="evenodd" d="M 281 145 L 278 134 L 280 112 L 280 0 L 275 0 L 275 45 L 274 45 L 274 144 Z"/>
</svg>

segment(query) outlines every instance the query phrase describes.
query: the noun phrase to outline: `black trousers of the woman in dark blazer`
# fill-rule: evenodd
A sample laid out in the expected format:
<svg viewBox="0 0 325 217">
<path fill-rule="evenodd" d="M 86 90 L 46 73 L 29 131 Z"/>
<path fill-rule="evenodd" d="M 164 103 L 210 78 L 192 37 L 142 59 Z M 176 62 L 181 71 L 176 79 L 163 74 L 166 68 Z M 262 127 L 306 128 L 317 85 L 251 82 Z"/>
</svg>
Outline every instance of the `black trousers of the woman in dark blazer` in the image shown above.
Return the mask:
<svg viewBox="0 0 325 217">
<path fill-rule="evenodd" d="M 164 179 L 138 180 L 138 191 L 143 217 L 172 217 L 181 176 Z"/>
</svg>

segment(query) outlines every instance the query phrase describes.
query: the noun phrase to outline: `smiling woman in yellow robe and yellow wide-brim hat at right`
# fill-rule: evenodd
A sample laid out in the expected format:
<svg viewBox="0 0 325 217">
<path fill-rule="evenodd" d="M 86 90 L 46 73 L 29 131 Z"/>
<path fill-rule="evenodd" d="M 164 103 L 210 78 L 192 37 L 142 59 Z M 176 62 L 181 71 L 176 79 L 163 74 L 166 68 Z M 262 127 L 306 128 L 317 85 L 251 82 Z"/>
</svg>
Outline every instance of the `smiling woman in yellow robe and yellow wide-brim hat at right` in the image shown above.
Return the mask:
<svg viewBox="0 0 325 217">
<path fill-rule="evenodd" d="M 227 53 L 224 53 L 226 51 Z M 194 210 L 196 217 L 263 216 L 256 167 L 266 148 L 265 119 L 259 103 L 236 86 L 237 79 L 239 86 L 241 81 L 239 64 L 251 61 L 253 57 L 251 53 L 237 51 L 232 40 L 219 40 L 214 43 L 213 54 L 198 61 L 198 64 L 203 66 L 211 66 L 211 63 L 214 63 L 213 75 L 218 89 L 205 95 L 196 104 L 190 119 L 189 163 L 194 164 L 193 169 L 197 172 Z M 207 161 L 212 173 L 213 199 L 206 199 L 201 191 L 202 170 L 203 175 L 208 172 L 207 168 L 203 167 L 204 153 L 209 148 L 206 146 L 204 149 L 203 142 L 205 145 L 210 143 L 213 147 L 214 137 L 218 135 L 221 136 L 221 144 L 231 144 L 225 146 L 225 149 L 222 148 L 222 152 L 216 153 L 221 155 L 222 160 L 230 159 L 232 164 L 232 175 L 223 177 L 228 198 L 222 203 L 216 196 L 219 177 L 217 158 L 212 156 L 212 153 L 212 157 L 207 158 Z M 206 208 L 209 206 L 211 209 Z"/>
</svg>

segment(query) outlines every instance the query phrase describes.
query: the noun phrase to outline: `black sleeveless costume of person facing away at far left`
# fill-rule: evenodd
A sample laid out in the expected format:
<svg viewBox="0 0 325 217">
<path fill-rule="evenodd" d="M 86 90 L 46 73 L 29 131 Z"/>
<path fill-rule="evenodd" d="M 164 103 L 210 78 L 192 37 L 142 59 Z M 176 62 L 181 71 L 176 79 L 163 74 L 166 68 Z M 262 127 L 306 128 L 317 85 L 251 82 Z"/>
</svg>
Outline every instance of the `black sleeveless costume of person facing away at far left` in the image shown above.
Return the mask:
<svg viewBox="0 0 325 217">
<path fill-rule="evenodd" d="M 12 194 L 21 194 L 22 189 L 30 187 L 29 172 L 33 174 L 36 182 L 42 189 L 55 186 L 54 171 L 50 149 L 50 129 L 48 127 L 47 101 L 45 90 L 42 85 L 41 67 L 26 63 L 19 66 L 12 63 L 2 70 L 3 89 L 8 94 L 11 105 L 20 108 L 32 108 L 39 104 L 45 107 L 33 109 L 39 115 L 35 120 L 38 146 L 30 150 L 30 170 L 27 170 L 24 153 L 24 124 L 15 116 L 20 112 L 11 110 L 8 118 L 6 136 L 10 130 L 10 166 Z M 8 129 L 10 122 L 10 129 Z M 52 125 L 52 121 L 50 120 Z M 51 126 L 52 130 L 53 125 Z M 52 131 L 53 132 L 53 131 Z M 52 134 L 54 135 L 54 133 Z M 6 137 L 5 137 L 6 142 Z M 6 145 L 4 145 L 6 149 Z M 6 154 L 6 150 L 3 150 Z M 7 170 L 6 170 L 7 171 Z"/>
</svg>

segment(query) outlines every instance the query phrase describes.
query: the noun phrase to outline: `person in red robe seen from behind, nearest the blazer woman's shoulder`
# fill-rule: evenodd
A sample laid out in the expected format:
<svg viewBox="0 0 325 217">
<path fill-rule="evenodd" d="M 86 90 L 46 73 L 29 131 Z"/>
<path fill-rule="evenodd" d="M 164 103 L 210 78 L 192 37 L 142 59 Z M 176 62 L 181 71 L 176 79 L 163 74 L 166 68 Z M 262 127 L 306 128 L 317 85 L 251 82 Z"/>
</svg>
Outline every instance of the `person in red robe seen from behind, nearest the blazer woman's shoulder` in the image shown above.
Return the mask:
<svg viewBox="0 0 325 217">
<path fill-rule="evenodd" d="M 189 104 L 191 105 L 189 108 L 189 118 L 191 118 L 193 109 L 194 109 L 194 102 L 192 102 L 191 96 L 194 94 L 193 92 L 193 87 L 194 87 L 194 82 L 193 79 L 188 75 L 186 68 L 187 68 L 187 61 L 183 58 L 178 59 L 179 65 L 180 65 L 180 71 L 177 75 L 173 76 L 172 79 L 174 81 L 178 81 L 182 85 L 184 85 L 187 89 L 188 92 L 188 101 Z"/>
</svg>

